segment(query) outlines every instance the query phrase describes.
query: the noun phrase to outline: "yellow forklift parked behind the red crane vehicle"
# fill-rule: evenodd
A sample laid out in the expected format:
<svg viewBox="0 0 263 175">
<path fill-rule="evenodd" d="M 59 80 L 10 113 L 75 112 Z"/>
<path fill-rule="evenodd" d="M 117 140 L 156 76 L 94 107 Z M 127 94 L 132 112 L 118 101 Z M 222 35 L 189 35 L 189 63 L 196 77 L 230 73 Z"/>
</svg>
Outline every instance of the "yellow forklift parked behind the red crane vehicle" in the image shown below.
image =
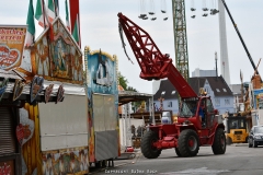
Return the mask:
<svg viewBox="0 0 263 175">
<path fill-rule="evenodd" d="M 227 124 L 227 143 L 247 143 L 248 142 L 248 128 L 247 128 L 247 117 L 241 116 L 230 116 L 226 118 Z"/>
</svg>

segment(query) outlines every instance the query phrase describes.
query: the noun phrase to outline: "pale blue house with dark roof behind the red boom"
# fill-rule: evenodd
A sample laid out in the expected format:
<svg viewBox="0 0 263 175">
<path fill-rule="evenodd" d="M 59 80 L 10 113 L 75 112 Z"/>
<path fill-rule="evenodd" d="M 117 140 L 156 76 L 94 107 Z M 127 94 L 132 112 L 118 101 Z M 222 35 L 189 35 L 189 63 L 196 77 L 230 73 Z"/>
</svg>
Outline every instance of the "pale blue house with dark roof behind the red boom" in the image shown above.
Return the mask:
<svg viewBox="0 0 263 175">
<path fill-rule="evenodd" d="M 201 88 L 204 88 L 219 114 L 235 113 L 233 93 L 222 77 L 190 78 L 188 83 L 196 94 L 199 93 Z M 175 115 L 179 112 L 179 94 L 169 80 L 160 82 L 153 102 L 158 109 L 162 106 L 162 109 L 172 110 Z"/>
</svg>

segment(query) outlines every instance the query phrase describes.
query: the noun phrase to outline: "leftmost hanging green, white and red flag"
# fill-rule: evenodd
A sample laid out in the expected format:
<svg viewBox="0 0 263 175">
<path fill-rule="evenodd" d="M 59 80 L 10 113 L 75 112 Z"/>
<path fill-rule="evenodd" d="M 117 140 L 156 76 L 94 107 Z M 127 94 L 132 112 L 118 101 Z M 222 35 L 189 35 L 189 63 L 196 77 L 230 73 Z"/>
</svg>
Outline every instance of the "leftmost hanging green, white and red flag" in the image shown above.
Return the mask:
<svg viewBox="0 0 263 175">
<path fill-rule="evenodd" d="M 28 47 L 34 43 L 34 37 L 35 37 L 33 0 L 30 0 L 26 24 L 27 24 L 27 30 L 26 30 L 26 36 L 25 36 L 25 46 Z"/>
</svg>

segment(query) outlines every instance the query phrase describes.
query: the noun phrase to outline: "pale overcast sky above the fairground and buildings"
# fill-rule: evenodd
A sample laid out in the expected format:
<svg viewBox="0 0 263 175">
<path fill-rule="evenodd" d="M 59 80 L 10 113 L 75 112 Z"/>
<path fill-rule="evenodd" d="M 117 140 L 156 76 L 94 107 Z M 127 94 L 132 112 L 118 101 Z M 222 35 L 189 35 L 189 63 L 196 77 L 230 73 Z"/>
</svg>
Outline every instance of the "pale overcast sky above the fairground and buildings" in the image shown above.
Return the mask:
<svg viewBox="0 0 263 175">
<path fill-rule="evenodd" d="M 139 78 L 140 68 L 130 50 L 126 37 L 126 49 L 135 65 L 128 61 L 123 51 L 118 34 L 117 13 L 122 12 L 147 31 L 159 49 L 163 54 L 170 54 L 174 62 L 172 0 L 153 0 L 157 13 L 156 21 L 144 21 L 138 18 L 141 9 L 139 5 L 140 1 L 141 0 L 80 0 L 82 50 L 84 50 L 84 46 L 89 46 L 91 50 L 102 49 L 111 55 L 117 55 L 118 70 L 127 78 L 128 85 L 139 92 L 152 93 L 152 82 Z M 147 11 L 150 9 L 150 1 L 152 0 L 145 0 Z M 193 13 L 190 10 L 192 1 L 193 0 L 185 0 L 190 75 L 192 75 L 192 72 L 196 68 L 203 70 L 215 69 L 215 51 L 217 51 L 218 58 L 220 58 L 218 15 L 202 16 L 204 0 L 194 0 L 196 18 L 192 19 L 191 15 Z M 206 0 L 207 8 L 211 7 L 213 1 L 215 0 Z M 226 0 L 226 2 L 235 22 L 238 24 L 238 28 L 254 63 L 258 65 L 260 58 L 263 56 L 263 1 Z M 33 0 L 33 3 L 35 9 L 36 0 Z M 167 8 L 163 4 L 165 4 Z M 65 21 L 65 0 L 59 0 L 59 15 Z M 27 9 L 28 0 L 4 1 L 4 5 L 0 5 L 1 24 L 26 24 Z M 167 21 L 162 20 L 165 18 L 165 15 L 161 13 L 163 9 L 168 11 L 169 19 Z M 36 21 L 35 23 L 37 37 L 43 30 Z M 244 81 L 250 81 L 254 72 L 253 68 L 227 13 L 226 24 L 231 84 L 240 83 L 240 70 L 243 72 Z M 218 63 L 218 70 L 220 74 L 220 63 Z M 259 71 L 263 74 L 262 63 L 259 66 Z"/>
</svg>

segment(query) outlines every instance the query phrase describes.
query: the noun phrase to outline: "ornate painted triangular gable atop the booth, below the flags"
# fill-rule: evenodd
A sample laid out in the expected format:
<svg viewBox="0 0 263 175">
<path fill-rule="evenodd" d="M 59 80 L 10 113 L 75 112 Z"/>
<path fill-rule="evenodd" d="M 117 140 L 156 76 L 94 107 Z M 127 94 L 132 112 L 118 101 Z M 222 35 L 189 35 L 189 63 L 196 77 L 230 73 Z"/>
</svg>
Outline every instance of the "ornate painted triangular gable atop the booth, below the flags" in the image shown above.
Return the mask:
<svg viewBox="0 0 263 175">
<path fill-rule="evenodd" d="M 59 18 L 53 24 L 54 40 L 46 31 L 35 43 L 33 70 L 46 80 L 82 84 L 82 54 Z"/>
</svg>

